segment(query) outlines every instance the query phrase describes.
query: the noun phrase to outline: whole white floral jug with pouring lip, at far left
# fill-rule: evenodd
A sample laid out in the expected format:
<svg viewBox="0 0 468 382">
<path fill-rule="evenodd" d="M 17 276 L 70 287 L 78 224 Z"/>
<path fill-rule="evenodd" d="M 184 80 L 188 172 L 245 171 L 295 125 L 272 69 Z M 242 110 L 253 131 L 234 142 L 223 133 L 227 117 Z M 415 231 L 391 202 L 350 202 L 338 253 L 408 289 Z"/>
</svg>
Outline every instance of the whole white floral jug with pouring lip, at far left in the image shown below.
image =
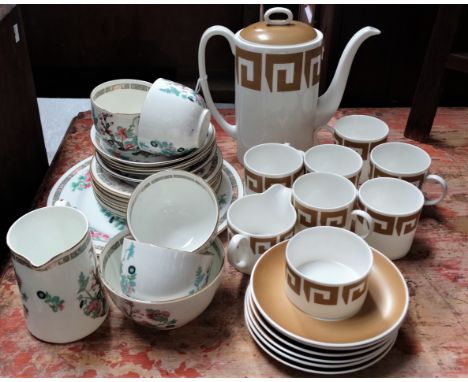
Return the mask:
<svg viewBox="0 0 468 382">
<path fill-rule="evenodd" d="M 6 241 L 33 336 L 67 343 L 104 322 L 108 303 L 82 212 L 64 206 L 33 210 L 13 223 Z"/>
</svg>

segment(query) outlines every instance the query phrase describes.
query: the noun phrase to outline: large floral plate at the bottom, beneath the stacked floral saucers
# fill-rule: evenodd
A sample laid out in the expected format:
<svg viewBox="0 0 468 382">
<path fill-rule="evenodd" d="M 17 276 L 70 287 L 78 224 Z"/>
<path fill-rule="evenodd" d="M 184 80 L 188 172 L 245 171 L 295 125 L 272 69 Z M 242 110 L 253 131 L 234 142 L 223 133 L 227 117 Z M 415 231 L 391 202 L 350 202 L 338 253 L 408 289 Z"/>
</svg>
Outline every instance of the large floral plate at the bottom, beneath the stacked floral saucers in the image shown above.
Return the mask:
<svg viewBox="0 0 468 382">
<path fill-rule="evenodd" d="M 47 205 L 53 205 L 57 200 L 64 199 L 73 207 L 81 210 L 89 220 L 89 229 L 93 244 L 98 253 L 115 235 L 124 230 L 126 220 L 113 215 L 102 208 L 97 202 L 91 186 L 89 166 L 92 157 L 86 158 L 70 168 L 55 183 L 49 193 Z M 219 204 L 218 234 L 227 226 L 227 210 L 238 198 L 244 195 L 242 180 L 236 169 L 224 161 L 222 182 L 216 193 Z"/>
</svg>

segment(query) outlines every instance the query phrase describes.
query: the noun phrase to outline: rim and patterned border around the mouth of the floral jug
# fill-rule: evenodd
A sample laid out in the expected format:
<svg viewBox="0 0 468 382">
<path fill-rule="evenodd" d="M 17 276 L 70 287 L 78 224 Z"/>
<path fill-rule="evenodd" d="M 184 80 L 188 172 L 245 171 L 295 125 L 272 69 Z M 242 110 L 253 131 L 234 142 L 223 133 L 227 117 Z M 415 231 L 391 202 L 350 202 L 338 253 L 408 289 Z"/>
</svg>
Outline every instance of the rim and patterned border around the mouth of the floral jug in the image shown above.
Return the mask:
<svg viewBox="0 0 468 382">
<path fill-rule="evenodd" d="M 51 209 L 51 208 L 59 208 L 59 209 L 64 209 L 64 208 L 67 208 L 67 209 L 70 209 L 70 210 L 73 210 L 77 213 L 79 213 L 83 218 L 84 218 L 84 221 L 86 223 L 86 229 L 84 230 L 84 233 L 83 235 L 81 236 L 81 238 L 77 241 L 76 244 L 74 244 L 73 246 L 51 256 L 47 261 L 44 261 L 43 263 L 41 264 L 35 264 L 33 263 L 31 260 L 29 260 L 27 257 L 21 255 L 20 253 L 18 253 L 19 251 L 15 248 L 15 246 L 13 245 L 12 243 L 12 239 L 11 239 L 11 235 L 12 235 L 12 230 L 15 228 L 15 226 L 17 224 L 20 224 L 23 220 L 25 219 L 28 219 L 31 215 L 33 214 L 37 214 L 37 213 L 40 213 L 40 211 L 44 211 L 46 209 Z M 76 256 L 78 256 L 79 254 L 81 254 L 87 247 L 88 245 L 91 243 L 91 236 L 89 235 L 89 222 L 88 222 L 88 219 L 86 218 L 85 214 L 76 209 L 76 208 L 73 208 L 73 207 L 66 207 L 66 206 L 46 206 L 46 207 L 41 207 L 41 208 L 36 208 L 32 211 L 29 211 L 28 213 L 24 214 L 23 216 L 19 217 L 11 226 L 10 228 L 8 229 L 8 232 L 7 232 L 7 235 L 6 235 L 6 242 L 7 242 L 7 245 L 8 245 L 8 248 L 10 249 L 10 252 L 11 252 L 11 255 L 12 255 L 12 258 L 13 260 L 15 260 L 16 262 L 30 268 L 30 269 L 34 269 L 36 271 L 47 271 L 47 270 L 50 270 L 58 265 L 62 265 L 70 260 L 72 260 L 73 258 L 75 258 Z M 67 255 L 71 255 L 73 253 L 77 253 L 76 256 L 67 256 Z"/>
</svg>

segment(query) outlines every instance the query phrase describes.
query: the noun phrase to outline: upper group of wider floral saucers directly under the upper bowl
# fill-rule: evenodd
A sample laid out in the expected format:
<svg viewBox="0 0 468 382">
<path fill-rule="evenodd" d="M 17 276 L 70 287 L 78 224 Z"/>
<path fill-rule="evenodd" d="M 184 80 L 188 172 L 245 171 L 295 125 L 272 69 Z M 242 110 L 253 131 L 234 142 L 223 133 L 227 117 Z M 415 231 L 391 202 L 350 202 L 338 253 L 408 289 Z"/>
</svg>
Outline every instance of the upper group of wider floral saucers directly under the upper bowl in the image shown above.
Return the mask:
<svg viewBox="0 0 468 382">
<path fill-rule="evenodd" d="M 187 155 L 168 158 L 144 151 L 126 152 L 110 146 L 100 139 L 95 127 L 91 129 L 91 142 L 99 164 L 112 176 L 137 184 L 159 171 L 177 169 L 201 176 L 210 185 L 221 177 L 222 155 L 216 145 L 215 129 L 210 126 L 203 145 Z"/>
</svg>

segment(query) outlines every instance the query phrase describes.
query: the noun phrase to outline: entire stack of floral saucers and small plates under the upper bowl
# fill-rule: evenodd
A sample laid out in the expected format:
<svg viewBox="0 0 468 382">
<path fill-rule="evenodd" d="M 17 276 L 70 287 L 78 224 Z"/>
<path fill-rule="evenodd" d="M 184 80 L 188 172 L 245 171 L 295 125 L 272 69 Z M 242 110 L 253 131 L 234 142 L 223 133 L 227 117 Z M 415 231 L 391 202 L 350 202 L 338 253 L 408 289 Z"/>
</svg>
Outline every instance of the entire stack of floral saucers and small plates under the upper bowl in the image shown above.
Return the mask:
<svg viewBox="0 0 468 382">
<path fill-rule="evenodd" d="M 159 171 L 179 169 L 200 176 L 216 193 L 223 180 L 223 156 L 216 145 L 211 125 L 202 147 L 177 158 L 128 153 L 101 140 L 93 126 L 91 142 L 96 154 L 91 161 L 90 175 L 98 203 L 113 214 L 126 217 L 131 193 L 146 177 Z"/>
</svg>

